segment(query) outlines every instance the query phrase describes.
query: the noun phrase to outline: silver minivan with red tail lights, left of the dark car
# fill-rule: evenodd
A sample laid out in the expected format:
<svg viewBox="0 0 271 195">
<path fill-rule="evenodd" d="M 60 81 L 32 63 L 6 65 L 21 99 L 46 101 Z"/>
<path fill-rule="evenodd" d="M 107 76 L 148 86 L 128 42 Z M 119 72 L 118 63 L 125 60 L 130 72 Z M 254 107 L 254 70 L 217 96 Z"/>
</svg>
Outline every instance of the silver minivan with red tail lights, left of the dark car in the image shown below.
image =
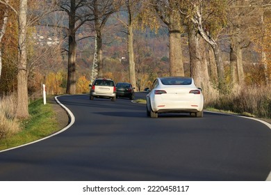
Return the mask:
<svg viewBox="0 0 271 195">
<path fill-rule="evenodd" d="M 112 79 L 95 79 L 90 85 L 90 100 L 94 98 L 110 98 L 116 100 L 116 87 Z"/>
</svg>

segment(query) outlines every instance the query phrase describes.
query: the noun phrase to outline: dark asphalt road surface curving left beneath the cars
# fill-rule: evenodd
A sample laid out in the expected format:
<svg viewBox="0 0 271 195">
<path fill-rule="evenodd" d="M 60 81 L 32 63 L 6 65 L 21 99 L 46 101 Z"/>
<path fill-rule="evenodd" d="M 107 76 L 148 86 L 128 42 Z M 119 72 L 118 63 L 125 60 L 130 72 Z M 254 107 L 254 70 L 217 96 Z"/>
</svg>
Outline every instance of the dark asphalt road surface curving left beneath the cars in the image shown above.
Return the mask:
<svg viewBox="0 0 271 195">
<path fill-rule="evenodd" d="M 271 131 L 258 121 L 211 113 L 148 118 L 145 104 L 128 99 L 58 100 L 74 125 L 0 153 L 0 180 L 255 181 L 271 171 Z"/>
</svg>

